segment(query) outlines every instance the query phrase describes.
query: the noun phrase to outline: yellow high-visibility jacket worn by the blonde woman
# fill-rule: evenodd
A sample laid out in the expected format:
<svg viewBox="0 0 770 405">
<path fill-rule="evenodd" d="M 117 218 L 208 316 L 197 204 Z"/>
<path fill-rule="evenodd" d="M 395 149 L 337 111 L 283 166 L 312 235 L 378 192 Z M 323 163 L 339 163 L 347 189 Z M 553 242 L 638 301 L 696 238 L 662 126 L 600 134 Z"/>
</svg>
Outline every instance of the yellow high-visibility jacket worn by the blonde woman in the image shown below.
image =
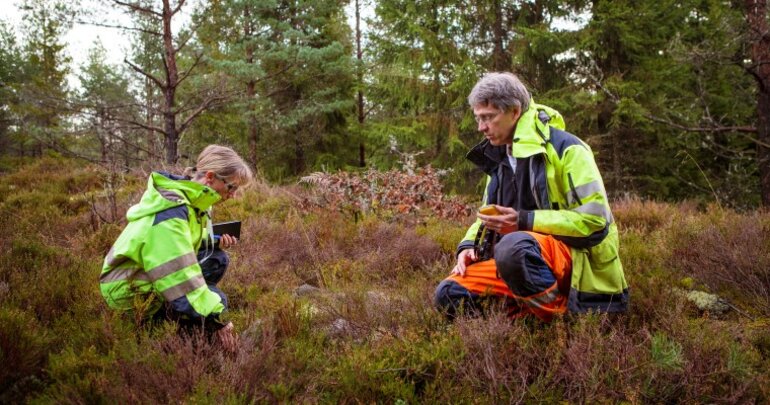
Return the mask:
<svg viewBox="0 0 770 405">
<path fill-rule="evenodd" d="M 200 183 L 152 173 L 104 259 L 99 281 L 107 304 L 151 316 L 166 301 L 189 319 L 218 323 L 224 305 L 206 285 L 196 252 L 206 236 L 207 211 L 220 198 Z"/>
</svg>

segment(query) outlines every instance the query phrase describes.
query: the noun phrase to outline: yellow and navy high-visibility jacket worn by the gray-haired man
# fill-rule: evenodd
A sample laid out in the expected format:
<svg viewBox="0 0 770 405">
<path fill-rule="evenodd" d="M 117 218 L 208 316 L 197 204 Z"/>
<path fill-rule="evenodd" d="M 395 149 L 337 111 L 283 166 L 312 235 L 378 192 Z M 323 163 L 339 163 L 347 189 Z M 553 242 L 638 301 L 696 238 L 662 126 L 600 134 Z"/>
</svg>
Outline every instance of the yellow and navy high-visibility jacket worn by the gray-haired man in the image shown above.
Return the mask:
<svg viewBox="0 0 770 405">
<path fill-rule="evenodd" d="M 564 131 L 561 114 L 534 102 L 514 130 L 515 175 L 505 148 L 484 140 L 468 153 L 487 174 L 483 203 L 515 208 L 519 230 L 553 235 L 570 246 L 570 311 L 625 311 L 629 292 L 618 230 L 591 148 Z M 474 247 L 481 226 L 481 220 L 471 225 L 458 252 Z"/>
</svg>

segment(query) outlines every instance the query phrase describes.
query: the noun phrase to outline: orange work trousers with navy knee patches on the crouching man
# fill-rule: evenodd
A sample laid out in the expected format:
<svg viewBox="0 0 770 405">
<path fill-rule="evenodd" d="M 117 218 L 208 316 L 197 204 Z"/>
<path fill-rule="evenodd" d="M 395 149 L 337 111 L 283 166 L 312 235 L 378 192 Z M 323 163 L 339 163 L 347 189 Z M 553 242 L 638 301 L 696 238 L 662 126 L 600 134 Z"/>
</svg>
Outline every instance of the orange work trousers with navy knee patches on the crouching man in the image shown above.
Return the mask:
<svg viewBox="0 0 770 405">
<path fill-rule="evenodd" d="M 571 275 L 572 256 L 564 242 L 551 235 L 514 232 L 495 246 L 495 259 L 471 264 L 464 276 L 452 275 L 444 280 L 436 291 L 436 302 L 451 300 L 452 297 L 439 294 L 456 292 L 456 286 L 440 291 L 445 283 L 454 282 L 470 296 L 509 298 L 507 301 L 515 303 L 509 308 L 512 317 L 534 314 L 550 321 L 554 314 L 567 310 Z M 463 293 L 467 298 L 467 293 Z M 455 293 L 457 297 L 461 295 Z"/>
</svg>

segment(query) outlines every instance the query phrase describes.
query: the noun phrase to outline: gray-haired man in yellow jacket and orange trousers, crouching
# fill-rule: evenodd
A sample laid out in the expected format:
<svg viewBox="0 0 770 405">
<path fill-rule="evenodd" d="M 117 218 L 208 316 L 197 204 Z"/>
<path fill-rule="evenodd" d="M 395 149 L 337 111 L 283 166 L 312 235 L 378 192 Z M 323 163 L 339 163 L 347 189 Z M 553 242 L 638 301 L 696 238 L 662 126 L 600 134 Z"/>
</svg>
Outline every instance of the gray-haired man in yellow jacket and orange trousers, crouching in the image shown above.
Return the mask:
<svg viewBox="0 0 770 405">
<path fill-rule="evenodd" d="M 543 321 L 626 311 L 617 226 L 591 148 L 513 73 L 484 75 L 468 104 L 485 139 L 467 158 L 486 190 L 436 306 L 450 319 L 480 314 L 490 300 Z"/>
</svg>

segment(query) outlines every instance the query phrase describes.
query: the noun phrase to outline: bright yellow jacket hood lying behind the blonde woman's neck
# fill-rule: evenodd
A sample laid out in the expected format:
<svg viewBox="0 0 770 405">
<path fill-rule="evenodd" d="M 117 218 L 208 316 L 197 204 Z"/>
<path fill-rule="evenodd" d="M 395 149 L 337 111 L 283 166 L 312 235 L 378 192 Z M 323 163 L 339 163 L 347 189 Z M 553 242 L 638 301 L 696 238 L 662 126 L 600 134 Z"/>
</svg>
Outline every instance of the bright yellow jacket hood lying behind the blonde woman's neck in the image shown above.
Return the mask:
<svg viewBox="0 0 770 405">
<path fill-rule="evenodd" d="M 187 177 L 153 172 L 147 179 L 147 190 L 138 204 L 128 209 L 126 218 L 135 221 L 180 205 L 205 211 L 222 197 L 212 188 Z"/>
</svg>

